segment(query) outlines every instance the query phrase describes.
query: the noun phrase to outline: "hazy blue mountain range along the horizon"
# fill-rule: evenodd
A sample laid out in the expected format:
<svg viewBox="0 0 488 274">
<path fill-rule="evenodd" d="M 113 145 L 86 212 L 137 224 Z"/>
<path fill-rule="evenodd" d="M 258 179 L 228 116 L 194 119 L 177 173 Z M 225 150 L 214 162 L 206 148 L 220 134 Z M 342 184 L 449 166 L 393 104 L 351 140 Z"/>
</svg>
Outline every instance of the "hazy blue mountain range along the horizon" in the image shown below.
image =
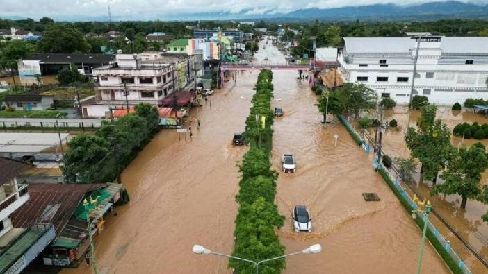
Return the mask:
<svg viewBox="0 0 488 274">
<path fill-rule="evenodd" d="M 161 14 L 156 18 L 162 21 L 184 20 L 269 20 L 279 22 L 309 21 L 321 19 L 327 21 L 349 20 L 435 20 L 435 19 L 488 19 L 488 4 L 476 5 L 459 1 L 430 2 L 414 6 L 398 6 L 395 4 L 375 4 L 368 6 L 348 6 L 342 8 L 306 8 L 286 13 L 268 12 L 263 14 L 251 14 L 252 10 L 242 10 L 239 13 L 231 12 L 195 12 Z M 4 19 L 22 19 L 19 16 L 2 17 Z M 154 19 L 156 19 L 154 18 Z M 81 15 L 65 15 L 54 17 L 56 21 L 108 21 L 107 16 L 88 17 Z M 136 18 L 113 16 L 113 21 L 140 20 Z"/>
</svg>

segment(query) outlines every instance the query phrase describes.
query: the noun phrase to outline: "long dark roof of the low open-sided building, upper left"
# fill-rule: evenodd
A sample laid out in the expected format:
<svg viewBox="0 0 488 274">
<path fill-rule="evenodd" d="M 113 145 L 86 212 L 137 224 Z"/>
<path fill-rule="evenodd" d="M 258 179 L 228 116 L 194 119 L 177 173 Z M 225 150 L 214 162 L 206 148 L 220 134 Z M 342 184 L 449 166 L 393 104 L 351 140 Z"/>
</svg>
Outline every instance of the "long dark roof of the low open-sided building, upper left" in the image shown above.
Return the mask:
<svg viewBox="0 0 488 274">
<path fill-rule="evenodd" d="M 115 60 L 115 55 L 44 53 L 30 55 L 24 58 L 24 60 L 38 60 L 41 64 L 70 64 L 81 62 L 87 64 L 108 64 Z"/>
</svg>

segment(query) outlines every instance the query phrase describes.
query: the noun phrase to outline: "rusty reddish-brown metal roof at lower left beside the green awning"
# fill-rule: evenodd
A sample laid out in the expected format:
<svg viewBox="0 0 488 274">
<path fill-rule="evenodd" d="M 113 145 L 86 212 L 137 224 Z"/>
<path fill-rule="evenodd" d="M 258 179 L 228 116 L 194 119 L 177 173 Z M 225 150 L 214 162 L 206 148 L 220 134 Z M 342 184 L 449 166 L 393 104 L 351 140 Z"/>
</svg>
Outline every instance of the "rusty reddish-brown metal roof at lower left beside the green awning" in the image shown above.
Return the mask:
<svg viewBox="0 0 488 274">
<path fill-rule="evenodd" d="M 16 228 L 27 228 L 31 223 L 52 223 L 56 237 L 72 218 L 74 210 L 88 192 L 106 184 L 30 184 L 31 198 L 10 217 Z M 51 207 L 52 212 L 47 210 Z M 46 211 L 44 216 L 42 214 Z"/>
</svg>

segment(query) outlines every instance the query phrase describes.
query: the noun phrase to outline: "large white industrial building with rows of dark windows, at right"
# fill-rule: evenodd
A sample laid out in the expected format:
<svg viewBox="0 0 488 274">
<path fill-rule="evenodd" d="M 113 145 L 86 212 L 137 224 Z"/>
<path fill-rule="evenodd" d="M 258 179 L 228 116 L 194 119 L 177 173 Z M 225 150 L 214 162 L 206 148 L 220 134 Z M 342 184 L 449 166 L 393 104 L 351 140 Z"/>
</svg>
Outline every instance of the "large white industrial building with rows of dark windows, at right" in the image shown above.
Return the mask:
<svg viewBox="0 0 488 274">
<path fill-rule="evenodd" d="M 439 105 L 488 99 L 488 37 L 346 37 L 343 42 L 339 62 L 345 80 L 389 93 L 397 103 L 409 102 L 417 47 L 414 95 Z"/>
</svg>

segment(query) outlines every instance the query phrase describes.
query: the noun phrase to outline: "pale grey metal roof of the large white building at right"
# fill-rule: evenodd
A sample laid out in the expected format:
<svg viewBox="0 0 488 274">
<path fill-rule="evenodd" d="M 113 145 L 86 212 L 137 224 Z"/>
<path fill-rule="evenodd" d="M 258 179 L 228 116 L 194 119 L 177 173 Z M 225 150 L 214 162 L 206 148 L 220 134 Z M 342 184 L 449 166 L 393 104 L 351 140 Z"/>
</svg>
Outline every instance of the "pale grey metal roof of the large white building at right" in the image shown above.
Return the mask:
<svg viewBox="0 0 488 274">
<path fill-rule="evenodd" d="M 416 40 L 409 37 L 345 37 L 347 54 L 411 54 Z M 421 42 L 422 43 L 428 42 Z M 441 37 L 443 54 L 488 54 L 488 37 Z"/>
</svg>

